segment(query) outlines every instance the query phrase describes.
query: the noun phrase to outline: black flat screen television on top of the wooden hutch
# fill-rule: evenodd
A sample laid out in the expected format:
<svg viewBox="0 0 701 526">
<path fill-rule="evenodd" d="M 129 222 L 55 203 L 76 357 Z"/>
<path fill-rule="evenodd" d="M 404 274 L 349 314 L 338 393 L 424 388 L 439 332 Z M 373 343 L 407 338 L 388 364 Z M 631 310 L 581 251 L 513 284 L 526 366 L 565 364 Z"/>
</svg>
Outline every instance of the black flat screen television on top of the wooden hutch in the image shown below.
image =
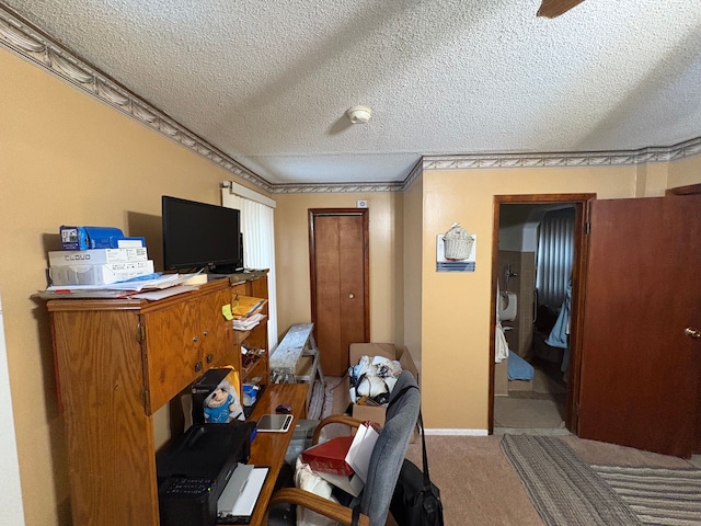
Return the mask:
<svg viewBox="0 0 701 526">
<path fill-rule="evenodd" d="M 231 274 L 243 268 L 241 211 L 164 195 L 163 264 L 166 271 L 206 268 Z"/>
</svg>

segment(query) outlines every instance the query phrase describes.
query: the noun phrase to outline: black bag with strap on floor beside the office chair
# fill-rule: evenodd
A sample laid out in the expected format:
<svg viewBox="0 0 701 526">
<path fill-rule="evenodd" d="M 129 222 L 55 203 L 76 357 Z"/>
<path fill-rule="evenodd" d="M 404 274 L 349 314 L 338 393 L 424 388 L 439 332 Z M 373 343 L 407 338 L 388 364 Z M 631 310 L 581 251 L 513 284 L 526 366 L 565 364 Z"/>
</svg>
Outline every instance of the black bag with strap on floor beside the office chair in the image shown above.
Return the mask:
<svg viewBox="0 0 701 526">
<path fill-rule="evenodd" d="M 440 490 L 428 477 L 428 457 L 424 439 L 424 422 L 418 413 L 424 472 L 404 459 L 397 480 L 390 512 L 400 526 L 444 526 Z"/>
</svg>

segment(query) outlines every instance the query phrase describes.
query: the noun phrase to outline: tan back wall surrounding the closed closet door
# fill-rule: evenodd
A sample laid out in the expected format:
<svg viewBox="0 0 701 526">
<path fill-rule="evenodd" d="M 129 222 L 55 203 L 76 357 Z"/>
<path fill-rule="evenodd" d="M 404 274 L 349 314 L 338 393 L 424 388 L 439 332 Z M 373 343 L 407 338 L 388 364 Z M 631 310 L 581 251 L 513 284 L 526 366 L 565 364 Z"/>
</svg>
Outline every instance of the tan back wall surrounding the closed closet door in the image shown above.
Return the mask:
<svg viewBox="0 0 701 526">
<path fill-rule="evenodd" d="M 398 192 L 275 195 L 280 334 L 292 323 L 311 321 L 309 208 L 355 208 L 365 199 L 370 210 L 370 339 L 403 343 L 402 198 Z"/>
</svg>

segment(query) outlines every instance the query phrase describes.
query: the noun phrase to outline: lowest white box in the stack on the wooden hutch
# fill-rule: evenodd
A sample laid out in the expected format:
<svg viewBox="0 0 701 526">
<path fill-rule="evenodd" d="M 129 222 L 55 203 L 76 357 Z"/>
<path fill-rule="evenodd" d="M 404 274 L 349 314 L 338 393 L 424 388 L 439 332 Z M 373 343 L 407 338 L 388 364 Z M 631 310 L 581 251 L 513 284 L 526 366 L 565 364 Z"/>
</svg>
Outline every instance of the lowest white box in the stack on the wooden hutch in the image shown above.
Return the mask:
<svg viewBox="0 0 701 526">
<path fill-rule="evenodd" d="M 131 261 L 103 265 L 61 265 L 49 270 L 53 285 L 111 285 L 153 274 L 153 261 Z"/>
</svg>

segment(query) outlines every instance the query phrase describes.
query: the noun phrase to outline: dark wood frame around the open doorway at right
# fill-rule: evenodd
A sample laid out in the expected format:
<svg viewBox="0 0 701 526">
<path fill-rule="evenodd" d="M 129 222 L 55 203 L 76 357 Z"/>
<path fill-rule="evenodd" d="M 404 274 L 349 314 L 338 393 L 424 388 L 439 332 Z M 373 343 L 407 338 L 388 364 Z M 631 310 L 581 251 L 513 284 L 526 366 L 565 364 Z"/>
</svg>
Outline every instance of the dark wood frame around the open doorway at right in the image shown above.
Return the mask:
<svg viewBox="0 0 701 526">
<path fill-rule="evenodd" d="M 596 194 L 528 194 L 495 195 L 494 222 L 492 230 L 492 300 L 490 312 L 496 312 L 496 290 L 498 283 L 498 238 L 499 207 L 509 204 L 571 204 L 575 208 L 574 261 L 572 266 L 572 311 L 570 322 L 570 367 L 567 370 L 567 399 L 565 402 L 565 426 L 575 435 L 579 424 L 579 371 L 582 369 L 581 325 L 584 311 L 584 290 L 586 286 L 586 262 L 588 255 L 588 229 L 590 202 Z M 494 434 L 494 331 L 496 317 L 490 317 L 490 393 L 487 411 L 487 433 Z"/>
</svg>

